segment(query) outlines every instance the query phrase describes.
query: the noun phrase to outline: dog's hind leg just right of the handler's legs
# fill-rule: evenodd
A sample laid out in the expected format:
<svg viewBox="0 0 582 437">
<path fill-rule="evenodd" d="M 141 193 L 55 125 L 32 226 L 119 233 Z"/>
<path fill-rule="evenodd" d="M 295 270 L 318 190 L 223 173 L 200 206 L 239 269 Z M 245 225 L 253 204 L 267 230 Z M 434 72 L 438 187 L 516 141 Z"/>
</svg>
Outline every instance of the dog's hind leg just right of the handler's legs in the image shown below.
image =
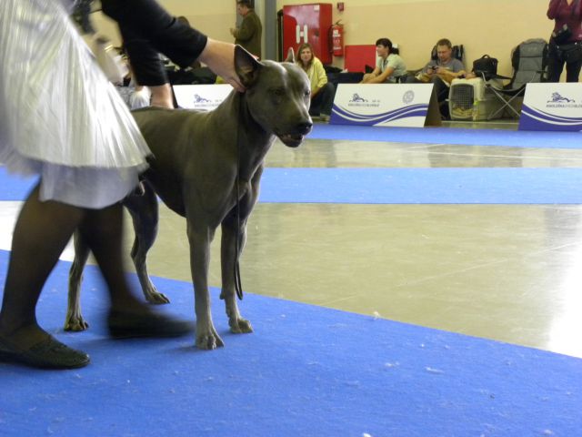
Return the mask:
<svg viewBox="0 0 582 437">
<path fill-rule="evenodd" d="M 154 245 L 157 236 L 159 213 L 156 193 L 147 182 L 144 182 L 144 193 L 128 196 L 124 200 L 124 205 L 134 223 L 135 239 L 131 249 L 131 259 L 134 261 L 135 272 L 144 297 L 150 303 L 168 303 L 170 300 L 165 294 L 156 290 L 156 286 L 149 279 L 146 265 L 147 252 Z"/>
</svg>

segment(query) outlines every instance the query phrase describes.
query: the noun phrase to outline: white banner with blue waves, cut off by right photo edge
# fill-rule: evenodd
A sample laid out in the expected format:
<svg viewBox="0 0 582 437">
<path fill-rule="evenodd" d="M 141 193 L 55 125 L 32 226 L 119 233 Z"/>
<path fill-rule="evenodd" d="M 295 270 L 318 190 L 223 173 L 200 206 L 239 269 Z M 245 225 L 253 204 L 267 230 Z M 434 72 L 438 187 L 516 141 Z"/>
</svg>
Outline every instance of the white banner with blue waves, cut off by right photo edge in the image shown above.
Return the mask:
<svg viewBox="0 0 582 437">
<path fill-rule="evenodd" d="M 519 130 L 582 130 L 582 85 L 527 84 Z"/>
</svg>

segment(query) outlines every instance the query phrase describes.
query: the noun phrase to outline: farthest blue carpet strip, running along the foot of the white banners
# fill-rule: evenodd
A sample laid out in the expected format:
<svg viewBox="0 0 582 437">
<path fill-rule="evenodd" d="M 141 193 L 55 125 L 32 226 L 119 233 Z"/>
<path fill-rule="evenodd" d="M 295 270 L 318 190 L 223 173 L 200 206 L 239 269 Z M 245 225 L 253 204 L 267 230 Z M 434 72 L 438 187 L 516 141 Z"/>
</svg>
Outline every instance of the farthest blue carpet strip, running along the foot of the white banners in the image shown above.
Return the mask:
<svg viewBox="0 0 582 437">
<path fill-rule="evenodd" d="M 457 127 L 367 127 L 316 124 L 309 138 L 469 146 L 582 148 L 580 132 L 531 132 Z"/>
</svg>

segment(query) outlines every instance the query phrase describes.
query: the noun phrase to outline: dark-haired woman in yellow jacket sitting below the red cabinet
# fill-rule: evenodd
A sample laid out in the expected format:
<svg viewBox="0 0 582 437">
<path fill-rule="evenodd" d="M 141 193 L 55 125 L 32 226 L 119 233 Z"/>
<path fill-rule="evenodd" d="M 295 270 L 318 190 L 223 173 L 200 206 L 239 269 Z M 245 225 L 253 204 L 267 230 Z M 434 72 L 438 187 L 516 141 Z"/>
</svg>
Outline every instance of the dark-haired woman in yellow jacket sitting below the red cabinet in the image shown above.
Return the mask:
<svg viewBox="0 0 582 437">
<path fill-rule="evenodd" d="M 306 72 L 311 82 L 311 106 L 309 115 L 329 121 L 331 107 L 334 105 L 336 87 L 327 81 L 326 70 L 321 61 L 313 54 L 313 47 L 304 43 L 297 49 L 299 58 L 296 64 Z"/>
</svg>

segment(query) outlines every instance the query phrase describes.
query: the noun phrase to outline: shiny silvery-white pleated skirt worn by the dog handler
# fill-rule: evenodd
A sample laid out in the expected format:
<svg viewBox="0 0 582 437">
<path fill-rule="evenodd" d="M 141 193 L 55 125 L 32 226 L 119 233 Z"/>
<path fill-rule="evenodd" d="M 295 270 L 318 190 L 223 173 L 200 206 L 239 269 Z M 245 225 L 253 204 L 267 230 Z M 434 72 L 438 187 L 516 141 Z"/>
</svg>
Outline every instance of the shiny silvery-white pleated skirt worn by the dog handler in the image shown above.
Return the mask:
<svg viewBox="0 0 582 437">
<path fill-rule="evenodd" d="M 41 176 L 41 199 L 104 208 L 149 150 L 58 0 L 2 0 L 0 163 Z"/>
</svg>

